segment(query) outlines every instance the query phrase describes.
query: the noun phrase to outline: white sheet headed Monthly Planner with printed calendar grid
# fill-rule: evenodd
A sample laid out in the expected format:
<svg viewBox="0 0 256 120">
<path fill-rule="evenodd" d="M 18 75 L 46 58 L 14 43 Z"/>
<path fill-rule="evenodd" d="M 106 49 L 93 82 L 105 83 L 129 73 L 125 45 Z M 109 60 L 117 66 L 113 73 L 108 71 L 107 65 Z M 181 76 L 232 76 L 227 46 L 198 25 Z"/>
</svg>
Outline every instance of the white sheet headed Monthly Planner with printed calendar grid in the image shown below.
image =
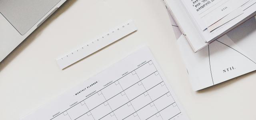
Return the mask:
<svg viewBox="0 0 256 120">
<path fill-rule="evenodd" d="M 144 47 L 22 120 L 189 120 Z"/>
</svg>

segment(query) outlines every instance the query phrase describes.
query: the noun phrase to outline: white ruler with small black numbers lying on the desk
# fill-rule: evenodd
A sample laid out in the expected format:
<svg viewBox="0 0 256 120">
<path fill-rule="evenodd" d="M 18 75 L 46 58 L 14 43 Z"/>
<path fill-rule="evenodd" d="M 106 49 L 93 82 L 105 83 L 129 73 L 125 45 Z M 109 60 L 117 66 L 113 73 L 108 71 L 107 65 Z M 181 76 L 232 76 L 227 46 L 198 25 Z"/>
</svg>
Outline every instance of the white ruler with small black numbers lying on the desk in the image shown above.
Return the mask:
<svg viewBox="0 0 256 120">
<path fill-rule="evenodd" d="M 61 69 L 64 69 L 136 30 L 137 28 L 134 22 L 129 20 L 128 22 L 110 30 L 106 34 L 92 40 L 88 44 L 84 44 L 80 48 L 58 58 L 57 63 Z"/>
</svg>

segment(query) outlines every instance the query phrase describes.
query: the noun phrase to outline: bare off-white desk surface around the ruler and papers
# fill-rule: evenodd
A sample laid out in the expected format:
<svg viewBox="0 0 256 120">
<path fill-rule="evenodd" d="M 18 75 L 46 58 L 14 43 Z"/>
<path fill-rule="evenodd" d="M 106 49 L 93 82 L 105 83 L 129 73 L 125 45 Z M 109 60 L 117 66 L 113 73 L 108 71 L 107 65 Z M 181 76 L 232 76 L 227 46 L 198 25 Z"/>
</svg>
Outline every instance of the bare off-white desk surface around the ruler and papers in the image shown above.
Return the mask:
<svg viewBox="0 0 256 120">
<path fill-rule="evenodd" d="M 58 56 L 128 19 L 137 32 L 65 70 L 58 68 Z M 19 120 L 144 45 L 191 120 L 256 119 L 255 72 L 192 91 L 162 0 L 68 0 L 0 63 L 0 120 Z"/>
</svg>

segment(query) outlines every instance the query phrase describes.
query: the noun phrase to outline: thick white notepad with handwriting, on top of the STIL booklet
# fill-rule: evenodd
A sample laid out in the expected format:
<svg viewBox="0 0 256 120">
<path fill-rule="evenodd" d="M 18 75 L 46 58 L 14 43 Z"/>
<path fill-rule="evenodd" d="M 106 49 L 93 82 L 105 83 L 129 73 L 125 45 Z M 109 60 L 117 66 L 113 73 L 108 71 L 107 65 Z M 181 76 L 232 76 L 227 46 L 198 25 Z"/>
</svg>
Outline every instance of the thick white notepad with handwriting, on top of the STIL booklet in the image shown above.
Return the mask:
<svg viewBox="0 0 256 120">
<path fill-rule="evenodd" d="M 256 0 L 164 0 L 194 52 L 256 14 Z"/>
</svg>

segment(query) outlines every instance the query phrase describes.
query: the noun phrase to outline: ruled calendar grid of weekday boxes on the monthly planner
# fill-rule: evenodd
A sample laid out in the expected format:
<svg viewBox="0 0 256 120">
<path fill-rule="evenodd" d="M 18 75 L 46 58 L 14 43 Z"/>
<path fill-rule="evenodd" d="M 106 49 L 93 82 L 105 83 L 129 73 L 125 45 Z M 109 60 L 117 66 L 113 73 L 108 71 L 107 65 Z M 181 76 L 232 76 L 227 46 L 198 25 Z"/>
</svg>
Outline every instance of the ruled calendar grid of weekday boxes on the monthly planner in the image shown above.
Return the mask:
<svg viewBox="0 0 256 120">
<path fill-rule="evenodd" d="M 50 120 L 172 120 L 179 115 L 150 60 Z"/>
</svg>

